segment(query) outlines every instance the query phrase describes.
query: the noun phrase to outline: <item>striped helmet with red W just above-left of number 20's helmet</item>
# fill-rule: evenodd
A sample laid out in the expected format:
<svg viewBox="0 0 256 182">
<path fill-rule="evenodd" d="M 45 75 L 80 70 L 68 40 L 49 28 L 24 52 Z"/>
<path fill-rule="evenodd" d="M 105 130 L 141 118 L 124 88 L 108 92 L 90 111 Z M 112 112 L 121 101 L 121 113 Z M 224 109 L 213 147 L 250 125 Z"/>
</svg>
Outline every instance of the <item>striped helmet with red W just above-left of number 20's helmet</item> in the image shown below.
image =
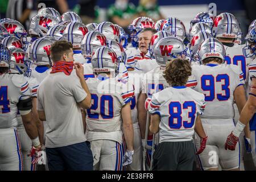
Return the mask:
<svg viewBox="0 0 256 182">
<path fill-rule="evenodd" d="M 106 46 L 106 37 L 101 32 L 91 31 L 85 34 L 81 42 L 83 55 L 92 55 L 97 48 Z"/>
</svg>

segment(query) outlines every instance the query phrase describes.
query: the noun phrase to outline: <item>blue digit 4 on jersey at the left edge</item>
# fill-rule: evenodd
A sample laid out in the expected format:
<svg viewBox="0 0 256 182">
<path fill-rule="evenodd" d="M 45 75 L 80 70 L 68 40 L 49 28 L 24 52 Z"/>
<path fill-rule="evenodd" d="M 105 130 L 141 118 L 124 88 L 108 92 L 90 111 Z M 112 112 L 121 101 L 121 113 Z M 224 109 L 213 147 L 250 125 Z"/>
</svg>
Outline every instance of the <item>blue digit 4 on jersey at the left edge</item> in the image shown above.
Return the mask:
<svg viewBox="0 0 256 182">
<path fill-rule="evenodd" d="M 8 99 L 8 86 L 0 86 L 0 111 L 2 114 L 10 113 L 10 101 Z"/>
</svg>

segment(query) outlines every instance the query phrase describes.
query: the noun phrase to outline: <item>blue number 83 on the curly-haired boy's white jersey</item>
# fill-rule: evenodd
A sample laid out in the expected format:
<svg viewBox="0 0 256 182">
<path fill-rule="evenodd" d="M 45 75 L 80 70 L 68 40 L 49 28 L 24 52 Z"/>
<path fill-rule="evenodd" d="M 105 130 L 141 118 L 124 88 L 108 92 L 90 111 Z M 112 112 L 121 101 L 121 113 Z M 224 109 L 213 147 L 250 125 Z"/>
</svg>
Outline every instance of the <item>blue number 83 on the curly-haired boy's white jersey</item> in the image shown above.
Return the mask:
<svg viewBox="0 0 256 182">
<path fill-rule="evenodd" d="M 191 108 L 191 111 L 188 111 L 188 119 L 190 121 L 184 121 L 181 114 L 183 110 L 188 110 Z M 196 103 L 193 101 L 185 101 L 182 105 L 180 102 L 170 102 L 169 104 L 169 127 L 170 129 L 180 129 L 181 126 L 184 129 L 190 129 L 194 126 L 196 119 Z"/>
</svg>

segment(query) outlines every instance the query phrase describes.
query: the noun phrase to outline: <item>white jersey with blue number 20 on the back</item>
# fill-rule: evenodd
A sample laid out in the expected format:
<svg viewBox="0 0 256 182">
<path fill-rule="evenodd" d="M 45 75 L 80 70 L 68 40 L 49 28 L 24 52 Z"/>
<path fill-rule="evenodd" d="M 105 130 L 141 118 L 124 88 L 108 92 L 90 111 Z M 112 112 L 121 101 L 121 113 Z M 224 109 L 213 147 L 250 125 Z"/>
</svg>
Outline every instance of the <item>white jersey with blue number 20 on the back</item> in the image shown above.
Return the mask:
<svg viewBox="0 0 256 182">
<path fill-rule="evenodd" d="M 118 77 L 86 80 L 92 107 L 86 110 L 86 138 L 114 140 L 122 143 L 121 110 L 134 96 L 133 85 Z"/>
</svg>

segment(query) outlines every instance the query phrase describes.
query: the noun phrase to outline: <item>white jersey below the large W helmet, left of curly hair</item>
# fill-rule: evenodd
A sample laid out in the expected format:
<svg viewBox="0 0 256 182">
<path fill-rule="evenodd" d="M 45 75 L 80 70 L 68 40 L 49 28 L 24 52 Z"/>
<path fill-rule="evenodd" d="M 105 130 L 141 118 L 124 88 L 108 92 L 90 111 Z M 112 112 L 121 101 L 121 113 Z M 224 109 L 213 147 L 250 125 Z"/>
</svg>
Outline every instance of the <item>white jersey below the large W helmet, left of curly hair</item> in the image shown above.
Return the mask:
<svg viewBox="0 0 256 182">
<path fill-rule="evenodd" d="M 162 67 L 157 67 L 147 72 L 142 80 L 142 93 L 146 93 L 147 97 L 152 98 L 152 94 L 163 90 L 170 86 L 166 78 L 163 77 Z"/>
</svg>

